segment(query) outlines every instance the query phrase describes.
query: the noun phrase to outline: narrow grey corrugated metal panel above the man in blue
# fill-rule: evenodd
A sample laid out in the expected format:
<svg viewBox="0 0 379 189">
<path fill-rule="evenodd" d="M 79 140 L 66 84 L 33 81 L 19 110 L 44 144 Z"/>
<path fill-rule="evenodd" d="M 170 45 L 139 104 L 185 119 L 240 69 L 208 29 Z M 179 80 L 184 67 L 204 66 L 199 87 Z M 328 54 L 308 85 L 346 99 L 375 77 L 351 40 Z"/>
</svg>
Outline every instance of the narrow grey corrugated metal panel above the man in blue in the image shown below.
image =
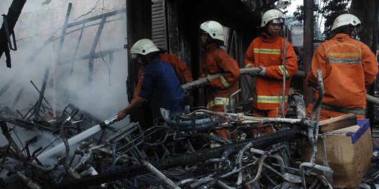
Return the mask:
<svg viewBox="0 0 379 189">
<path fill-rule="evenodd" d="M 152 41 L 159 48 L 167 49 L 164 0 L 152 0 L 152 3 Z"/>
</svg>

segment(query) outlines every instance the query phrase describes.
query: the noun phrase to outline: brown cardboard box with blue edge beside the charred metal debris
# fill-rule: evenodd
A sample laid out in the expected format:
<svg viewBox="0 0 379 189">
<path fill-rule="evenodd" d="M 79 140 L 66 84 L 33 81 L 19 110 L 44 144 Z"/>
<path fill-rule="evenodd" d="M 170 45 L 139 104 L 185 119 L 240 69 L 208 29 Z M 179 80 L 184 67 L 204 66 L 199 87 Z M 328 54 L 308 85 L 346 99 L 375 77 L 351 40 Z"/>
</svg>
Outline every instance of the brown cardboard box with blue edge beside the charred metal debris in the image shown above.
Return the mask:
<svg viewBox="0 0 379 189">
<path fill-rule="evenodd" d="M 333 169 L 333 186 L 335 188 L 357 188 L 364 174 L 371 167 L 373 145 L 370 123 L 358 120 L 358 125 L 346 127 L 326 135 L 326 157 Z M 324 148 L 322 138 L 317 141 L 319 151 L 316 164 L 323 165 Z M 304 160 L 309 162 L 312 149 L 305 147 Z"/>
</svg>

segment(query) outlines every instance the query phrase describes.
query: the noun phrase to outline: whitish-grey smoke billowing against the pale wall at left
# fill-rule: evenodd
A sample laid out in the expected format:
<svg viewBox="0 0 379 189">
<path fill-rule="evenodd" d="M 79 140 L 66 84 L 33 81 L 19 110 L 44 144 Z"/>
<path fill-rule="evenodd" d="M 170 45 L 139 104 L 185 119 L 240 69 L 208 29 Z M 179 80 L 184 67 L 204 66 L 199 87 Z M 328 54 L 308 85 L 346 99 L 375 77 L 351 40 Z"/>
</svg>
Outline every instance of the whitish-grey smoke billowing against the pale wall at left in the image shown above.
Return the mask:
<svg viewBox="0 0 379 189">
<path fill-rule="evenodd" d="M 126 7 L 124 0 L 71 2 L 72 12 L 69 22 L 84 20 Z M 52 106 L 56 104 L 58 117 L 69 103 L 100 120 L 116 116 L 117 112 L 127 105 L 127 50 L 122 49 L 126 44 L 126 13 L 107 18 L 100 40 L 95 43 L 95 53 L 106 56 L 103 59 L 101 57 L 94 59 L 91 75 L 88 59 L 55 65 L 68 3 L 68 0 L 28 0 L 25 3 L 14 29 L 18 50 L 11 51 L 12 68 L 6 68 L 4 55 L 0 59 L 2 67 L 0 89 L 8 83 L 8 80 L 14 79 L 8 90 L 0 96 L 0 110 L 8 106 L 13 108 L 12 111 L 26 113 L 39 99 L 39 93 L 30 80 L 41 90 L 46 68 L 49 69 L 49 74 L 44 97 Z M 11 0 L 1 0 L 0 4 L 0 11 L 7 13 Z M 84 29 L 83 34 L 81 34 L 82 25 L 67 29 L 69 34 L 65 36 L 60 60 L 89 55 L 99 22 L 100 20 L 94 20 L 86 23 L 88 27 Z M 80 43 L 77 45 L 80 36 Z M 121 50 L 112 55 L 106 53 L 119 48 Z M 22 95 L 16 103 L 15 97 L 20 90 L 22 90 Z M 113 126 L 126 125 L 126 123 L 128 119 Z M 31 146 L 31 152 L 40 146 L 45 146 L 56 137 L 46 132 L 26 131 L 18 126 L 15 128 L 21 141 L 18 143 L 24 145 L 26 140 L 39 136 L 36 144 Z M 12 137 L 18 141 L 15 135 Z M 57 142 L 61 142 L 61 139 Z M 0 146 L 8 144 L 2 134 L 0 134 L 0 144 Z"/>
</svg>

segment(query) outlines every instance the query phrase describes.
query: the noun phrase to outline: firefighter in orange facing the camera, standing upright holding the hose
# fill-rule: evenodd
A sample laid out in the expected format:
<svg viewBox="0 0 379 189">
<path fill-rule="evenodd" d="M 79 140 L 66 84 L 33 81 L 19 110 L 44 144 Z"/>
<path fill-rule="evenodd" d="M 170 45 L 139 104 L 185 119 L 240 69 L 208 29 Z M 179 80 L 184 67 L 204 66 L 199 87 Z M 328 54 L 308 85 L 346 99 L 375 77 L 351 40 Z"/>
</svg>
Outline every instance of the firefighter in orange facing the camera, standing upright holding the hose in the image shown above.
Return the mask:
<svg viewBox="0 0 379 189">
<path fill-rule="evenodd" d="M 261 71 L 255 78 L 255 97 L 253 113 L 257 116 L 275 118 L 281 116 L 278 94 L 283 96 L 283 76 L 286 77 L 284 114 L 288 106 L 291 76 L 298 71 L 297 56 L 293 46 L 280 36 L 284 25 L 284 14 L 280 10 L 267 10 L 262 16 L 263 32 L 255 38 L 245 55 L 245 66 L 259 67 Z M 284 55 L 286 65 L 284 66 Z"/>
</svg>

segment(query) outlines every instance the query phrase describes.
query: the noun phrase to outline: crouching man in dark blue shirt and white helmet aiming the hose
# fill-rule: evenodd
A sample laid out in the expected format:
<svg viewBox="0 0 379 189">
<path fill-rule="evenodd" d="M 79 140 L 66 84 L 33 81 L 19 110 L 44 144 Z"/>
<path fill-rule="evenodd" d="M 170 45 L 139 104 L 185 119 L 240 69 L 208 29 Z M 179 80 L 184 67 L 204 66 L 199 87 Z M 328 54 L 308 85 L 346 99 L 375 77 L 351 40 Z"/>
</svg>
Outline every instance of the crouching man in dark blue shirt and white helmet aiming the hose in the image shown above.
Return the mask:
<svg viewBox="0 0 379 189">
<path fill-rule="evenodd" d="M 162 52 L 163 50 L 147 38 L 137 41 L 132 46 L 131 54 L 144 65 L 140 92 L 131 104 L 117 113 L 117 120 L 124 119 L 133 109 L 146 101 L 154 119 L 161 117 L 160 108 L 168 109 L 172 113 L 182 111 L 180 102 L 184 98 L 184 91 L 173 66 L 161 59 Z"/>
</svg>

